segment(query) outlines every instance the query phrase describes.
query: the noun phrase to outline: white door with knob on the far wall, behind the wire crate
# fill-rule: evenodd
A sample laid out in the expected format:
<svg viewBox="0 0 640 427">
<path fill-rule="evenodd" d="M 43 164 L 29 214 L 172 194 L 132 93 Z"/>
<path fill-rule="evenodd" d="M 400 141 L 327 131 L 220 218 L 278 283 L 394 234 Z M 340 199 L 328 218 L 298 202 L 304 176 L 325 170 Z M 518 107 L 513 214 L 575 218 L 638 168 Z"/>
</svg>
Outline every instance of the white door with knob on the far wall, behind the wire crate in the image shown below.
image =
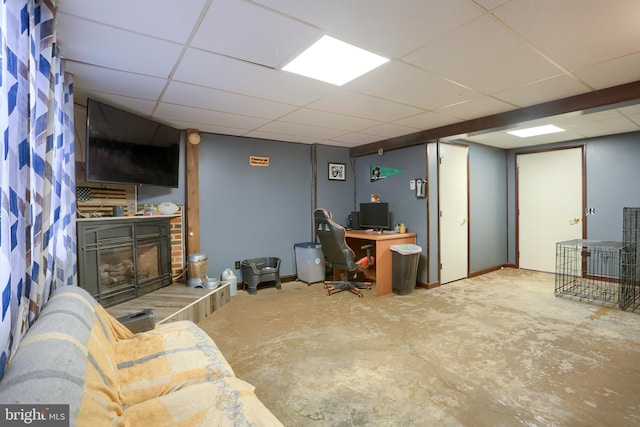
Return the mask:
<svg viewBox="0 0 640 427">
<path fill-rule="evenodd" d="M 520 268 L 554 272 L 557 242 L 582 238 L 582 148 L 519 154 Z"/>
</svg>

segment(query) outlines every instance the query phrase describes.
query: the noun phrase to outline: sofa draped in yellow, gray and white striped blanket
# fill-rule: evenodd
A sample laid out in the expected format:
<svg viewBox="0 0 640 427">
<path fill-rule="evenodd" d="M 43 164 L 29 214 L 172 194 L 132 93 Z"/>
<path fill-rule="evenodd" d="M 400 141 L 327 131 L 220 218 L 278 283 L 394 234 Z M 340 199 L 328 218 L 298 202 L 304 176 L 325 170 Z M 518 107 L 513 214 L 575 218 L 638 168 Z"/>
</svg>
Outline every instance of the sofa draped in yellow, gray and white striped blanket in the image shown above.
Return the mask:
<svg viewBox="0 0 640 427">
<path fill-rule="evenodd" d="M 0 402 L 68 404 L 71 426 L 282 425 L 195 323 L 133 334 L 76 286 L 20 341 Z"/>
</svg>

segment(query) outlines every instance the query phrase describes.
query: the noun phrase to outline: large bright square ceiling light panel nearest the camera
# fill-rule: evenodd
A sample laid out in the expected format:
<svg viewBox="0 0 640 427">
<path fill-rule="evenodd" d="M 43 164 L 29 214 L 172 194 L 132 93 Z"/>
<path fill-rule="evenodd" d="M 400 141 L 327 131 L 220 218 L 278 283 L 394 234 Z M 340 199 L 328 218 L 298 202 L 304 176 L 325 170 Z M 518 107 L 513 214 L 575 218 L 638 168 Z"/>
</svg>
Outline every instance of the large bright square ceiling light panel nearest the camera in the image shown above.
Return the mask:
<svg viewBox="0 0 640 427">
<path fill-rule="evenodd" d="M 323 36 L 282 69 L 342 86 L 388 61 L 375 53 Z"/>
</svg>

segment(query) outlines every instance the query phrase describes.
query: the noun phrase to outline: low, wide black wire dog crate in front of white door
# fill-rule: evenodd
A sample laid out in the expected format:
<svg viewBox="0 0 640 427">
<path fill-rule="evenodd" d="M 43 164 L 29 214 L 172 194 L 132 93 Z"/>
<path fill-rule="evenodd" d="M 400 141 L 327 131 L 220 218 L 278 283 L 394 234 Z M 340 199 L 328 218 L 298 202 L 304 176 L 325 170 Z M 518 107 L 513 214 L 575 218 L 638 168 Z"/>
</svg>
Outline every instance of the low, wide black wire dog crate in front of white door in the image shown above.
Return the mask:
<svg viewBox="0 0 640 427">
<path fill-rule="evenodd" d="M 608 306 L 619 305 L 624 248 L 624 242 L 601 240 L 575 239 L 556 243 L 555 295 Z"/>
</svg>

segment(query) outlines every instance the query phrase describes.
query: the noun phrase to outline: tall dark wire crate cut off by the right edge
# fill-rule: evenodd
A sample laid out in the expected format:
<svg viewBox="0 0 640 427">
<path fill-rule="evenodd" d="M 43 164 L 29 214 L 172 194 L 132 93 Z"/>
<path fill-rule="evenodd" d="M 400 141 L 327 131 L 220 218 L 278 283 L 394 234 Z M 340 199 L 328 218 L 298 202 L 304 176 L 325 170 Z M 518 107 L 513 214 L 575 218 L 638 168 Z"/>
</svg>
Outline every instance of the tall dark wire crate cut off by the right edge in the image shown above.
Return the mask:
<svg viewBox="0 0 640 427">
<path fill-rule="evenodd" d="M 622 240 L 620 308 L 636 309 L 640 305 L 640 208 L 622 210 Z"/>
</svg>

